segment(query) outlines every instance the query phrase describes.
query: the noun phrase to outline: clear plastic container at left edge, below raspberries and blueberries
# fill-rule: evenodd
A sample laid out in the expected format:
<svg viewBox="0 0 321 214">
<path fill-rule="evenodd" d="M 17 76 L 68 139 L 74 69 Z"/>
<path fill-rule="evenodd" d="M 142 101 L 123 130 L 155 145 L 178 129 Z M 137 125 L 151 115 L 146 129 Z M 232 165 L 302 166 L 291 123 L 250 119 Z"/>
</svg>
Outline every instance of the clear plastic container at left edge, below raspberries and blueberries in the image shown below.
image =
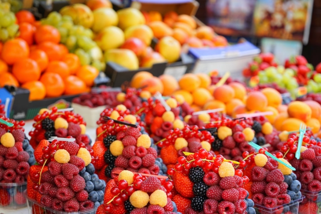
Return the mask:
<svg viewBox="0 0 321 214">
<path fill-rule="evenodd" d="M 27 206 L 24 191 L 27 182 L 23 183 L 0 183 L 0 207 L 3 209 L 20 209 Z"/>
</svg>

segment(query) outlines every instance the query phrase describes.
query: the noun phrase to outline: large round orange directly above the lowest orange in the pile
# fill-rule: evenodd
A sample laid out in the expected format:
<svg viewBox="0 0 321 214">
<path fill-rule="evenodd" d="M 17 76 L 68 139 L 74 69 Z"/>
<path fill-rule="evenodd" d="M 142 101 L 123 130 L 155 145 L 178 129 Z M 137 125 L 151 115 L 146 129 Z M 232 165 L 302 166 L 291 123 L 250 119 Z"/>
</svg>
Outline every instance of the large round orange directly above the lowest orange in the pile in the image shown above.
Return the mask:
<svg viewBox="0 0 321 214">
<path fill-rule="evenodd" d="M 26 58 L 13 64 L 12 74 L 20 83 L 25 83 L 39 80 L 40 69 L 36 61 Z"/>
</svg>

